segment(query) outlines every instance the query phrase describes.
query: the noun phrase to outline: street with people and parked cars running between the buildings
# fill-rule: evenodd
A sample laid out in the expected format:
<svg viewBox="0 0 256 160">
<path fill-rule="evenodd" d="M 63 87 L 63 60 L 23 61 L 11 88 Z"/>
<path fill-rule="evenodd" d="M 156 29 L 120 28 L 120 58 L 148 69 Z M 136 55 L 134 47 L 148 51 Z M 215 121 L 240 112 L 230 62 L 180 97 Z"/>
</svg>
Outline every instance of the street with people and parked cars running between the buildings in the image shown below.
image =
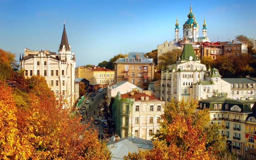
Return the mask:
<svg viewBox="0 0 256 160">
<path fill-rule="evenodd" d="M 102 123 L 100 122 L 100 124 L 94 124 L 94 119 L 98 119 L 100 120 L 99 117 L 97 117 L 99 115 L 99 110 L 98 110 L 98 105 L 101 104 L 104 99 L 103 99 L 103 94 L 106 94 L 107 91 L 104 90 L 103 92 L 95 92 L 96 96 L 94 97 L 90 97 L 90 94 L 87 95 L 86 98 L 84 98 L 84 102 L 83 102 L 83 105 L 82 106 L 85 106 L 85 110 L 83 110 L 84 112 L 84 118 L 85 118 L 85 121 L 83 121 L 83 124 L 87 124 L 89 123 L 89 121 L 91 121 L 91 125 L 90 125 L 90 128 L 92 127 L 96 127 L 98 128 L 98 133 L 101 135 L 104 136 L 104 132 L 103 132 L 103 125 Z M 92 101 L 92 98 L 93 98 L 93 101 Z M 86 100 L 90 100 L 90 103 L 89 104 L 85 104 L 85 101 Z M 89 107 L 91 106 L 91 107 Z M 85 115 L 85 111 L 87 111 L 87 116 L 89 117 L 89 120 L 87 120 L 87 116 Z M 94 111 L 96 111 L 97 113 L 94 115 Z M 92 118 L 92 120 L 91 120 Z"/>
</svg>

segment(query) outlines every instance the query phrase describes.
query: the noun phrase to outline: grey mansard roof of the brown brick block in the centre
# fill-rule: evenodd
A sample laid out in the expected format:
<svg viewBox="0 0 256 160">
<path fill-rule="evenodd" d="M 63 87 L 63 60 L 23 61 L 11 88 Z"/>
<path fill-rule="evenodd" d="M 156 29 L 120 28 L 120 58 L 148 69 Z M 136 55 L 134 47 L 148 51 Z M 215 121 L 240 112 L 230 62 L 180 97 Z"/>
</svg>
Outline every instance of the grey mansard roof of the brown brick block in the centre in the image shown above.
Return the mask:
<svg viewBox="0 0 256 160">
<path fill-rule="evenodd" d="M 136 57 L 141 58 L 141 62 L 138 62 Z M 125 58 L 128 58 L 128 62 L 125 61 Z M 144 53 L 130 52 L 125 58 L 119 58 L 115 63 L 154 63 L 153 59 L 144 57 Z M 134 62 L 132 62 L 132 58 L 134 58 Z"/>
</svg>

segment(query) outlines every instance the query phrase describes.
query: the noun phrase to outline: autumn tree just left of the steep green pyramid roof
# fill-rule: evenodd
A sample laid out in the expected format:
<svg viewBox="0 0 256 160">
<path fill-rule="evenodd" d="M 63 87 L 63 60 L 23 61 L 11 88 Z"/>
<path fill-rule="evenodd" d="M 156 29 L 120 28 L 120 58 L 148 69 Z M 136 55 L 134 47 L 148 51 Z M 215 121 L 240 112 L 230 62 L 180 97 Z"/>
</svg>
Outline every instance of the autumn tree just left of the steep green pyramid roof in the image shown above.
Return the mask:
<svg viewBox="0 0 256 160">
<path fill-rule="evenodd" d="M 159 60 L 158 66 L 159 67 L 162 67 L 162 66 L 165 67 L 167 65 L 174 64 L 177 61 L 177 55 L 180 56 L 181 52 L 182 52 L 181 49 L 173 49 L 171 51 L 167 51 L 167 52 L 161 54 L 158 57 L 158 60 Z"/>
</svg>

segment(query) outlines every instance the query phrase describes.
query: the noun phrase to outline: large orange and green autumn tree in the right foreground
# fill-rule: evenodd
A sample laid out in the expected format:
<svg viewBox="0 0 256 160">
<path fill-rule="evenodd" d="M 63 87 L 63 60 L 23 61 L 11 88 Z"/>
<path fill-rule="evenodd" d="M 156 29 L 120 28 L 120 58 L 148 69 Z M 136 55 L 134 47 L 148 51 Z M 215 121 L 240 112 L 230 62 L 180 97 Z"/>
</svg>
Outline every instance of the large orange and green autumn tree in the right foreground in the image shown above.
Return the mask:
<svg viewBox="0 0 256 160">
<path fill-rule="evenodd" d="M 154 134 L 154 148 L 125 156 L 134 159 L 219 159 L 225 138 L 219 133 L 224 125 L 209 125 L 208 109 L 194 112 L 198 102 L 174 101 L 164 107 L 160 131 Z"/>
</svg>

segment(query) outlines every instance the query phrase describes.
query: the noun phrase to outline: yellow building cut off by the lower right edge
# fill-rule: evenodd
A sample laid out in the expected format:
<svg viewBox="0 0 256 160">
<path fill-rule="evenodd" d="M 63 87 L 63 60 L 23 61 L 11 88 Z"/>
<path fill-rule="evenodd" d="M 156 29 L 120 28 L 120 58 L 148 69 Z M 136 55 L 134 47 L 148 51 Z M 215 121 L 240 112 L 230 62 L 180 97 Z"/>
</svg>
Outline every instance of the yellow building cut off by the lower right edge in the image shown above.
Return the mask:
<svg viewBox="0 0 256 160">
<path fill-rule="evenodd" d="M 245 155 L 247 160 L 256 159 L 256 105 L 252 107 L 253 113 L 247 116 L 245 123 Z"/>
</svg>

